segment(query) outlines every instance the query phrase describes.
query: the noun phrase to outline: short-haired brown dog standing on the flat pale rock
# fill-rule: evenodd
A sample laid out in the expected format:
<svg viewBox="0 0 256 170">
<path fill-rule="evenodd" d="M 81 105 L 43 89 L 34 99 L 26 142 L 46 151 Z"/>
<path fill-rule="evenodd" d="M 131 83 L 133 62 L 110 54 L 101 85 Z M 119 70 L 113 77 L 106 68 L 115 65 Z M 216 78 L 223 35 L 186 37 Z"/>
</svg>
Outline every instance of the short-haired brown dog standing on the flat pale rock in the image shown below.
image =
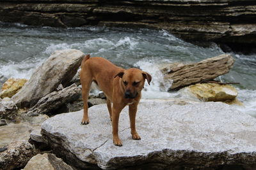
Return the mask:
<svg viewBox="0 0 256 170">
<path fill-rule="evenodd" d="M 113 143 L 122 146 L 122 141 L 118 137 L 118 120 L 120 112 L 127 105 L 129 105 L 132 139 L 140 140 L 135 127 L 135 117 L 145 79 L 150 84 L 150 74 L 140 69 L 125 70 L 101 57 L 90 58 L 90 55 L 86 55 L 80 73 L 84 101 L 84 116 L 81 124 L 89 124 L 87 100 L 92 81 L 95 81 L 107 97 L 109 116 L 112 120 Z"/>
</svg>

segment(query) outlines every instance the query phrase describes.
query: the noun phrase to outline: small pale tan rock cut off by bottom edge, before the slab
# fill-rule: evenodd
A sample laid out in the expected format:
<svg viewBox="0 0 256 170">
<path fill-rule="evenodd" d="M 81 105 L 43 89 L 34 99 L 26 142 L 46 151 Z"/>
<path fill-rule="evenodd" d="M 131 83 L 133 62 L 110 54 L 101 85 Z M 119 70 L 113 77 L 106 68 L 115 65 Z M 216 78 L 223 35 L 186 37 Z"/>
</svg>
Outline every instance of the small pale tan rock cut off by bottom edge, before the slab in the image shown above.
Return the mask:
<svg viewBox="0 0 256 170">
<path fill-rule="evenodd" d="M 24 167 L 24 170 L 72 170 L 72 167 L 68 166 L 62 159 L 57 158 L 52 153 L 38 154 L 31 158 L 28 164 Z"/>
</svg>

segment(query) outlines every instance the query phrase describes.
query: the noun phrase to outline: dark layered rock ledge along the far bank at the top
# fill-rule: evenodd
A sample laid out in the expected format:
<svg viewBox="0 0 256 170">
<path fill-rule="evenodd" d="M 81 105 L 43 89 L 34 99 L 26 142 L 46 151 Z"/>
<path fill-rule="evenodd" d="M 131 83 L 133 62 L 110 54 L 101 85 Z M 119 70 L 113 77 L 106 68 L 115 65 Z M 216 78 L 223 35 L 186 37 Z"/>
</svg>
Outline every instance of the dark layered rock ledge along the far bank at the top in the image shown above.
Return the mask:
<svg viewBox="0 0 256 170">
<path fill-rule="evenodd" d="M 193 41 L 256 44 L 253 0 L 4 0 L 0 20 L 28 25 L 108 25 L 166 29 Z"/>
</svg>

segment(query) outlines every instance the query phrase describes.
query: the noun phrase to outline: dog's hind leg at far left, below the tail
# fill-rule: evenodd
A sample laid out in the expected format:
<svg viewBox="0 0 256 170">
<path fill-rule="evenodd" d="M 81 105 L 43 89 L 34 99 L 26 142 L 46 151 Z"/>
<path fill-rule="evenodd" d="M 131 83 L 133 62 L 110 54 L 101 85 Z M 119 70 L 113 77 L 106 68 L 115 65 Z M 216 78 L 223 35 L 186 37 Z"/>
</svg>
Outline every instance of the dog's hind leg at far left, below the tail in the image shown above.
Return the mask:
<svg viewBox="0 0 256 170">
<path fill-rule="evenodd" d="M 88 96 L 89 96 L 89 91 L 90 87 L 92 85 L 92 76 L 90 73 L 88 73 L 89 70 L 81 70 L 80 73 L 80 81 L 82 84 L 82 98 L 84 101 L 84 115 L 83 115 L 83 120 L 81 124 L 86 125 L 89 124 L 89 117 L 88 117 Z"/>
</svg>

